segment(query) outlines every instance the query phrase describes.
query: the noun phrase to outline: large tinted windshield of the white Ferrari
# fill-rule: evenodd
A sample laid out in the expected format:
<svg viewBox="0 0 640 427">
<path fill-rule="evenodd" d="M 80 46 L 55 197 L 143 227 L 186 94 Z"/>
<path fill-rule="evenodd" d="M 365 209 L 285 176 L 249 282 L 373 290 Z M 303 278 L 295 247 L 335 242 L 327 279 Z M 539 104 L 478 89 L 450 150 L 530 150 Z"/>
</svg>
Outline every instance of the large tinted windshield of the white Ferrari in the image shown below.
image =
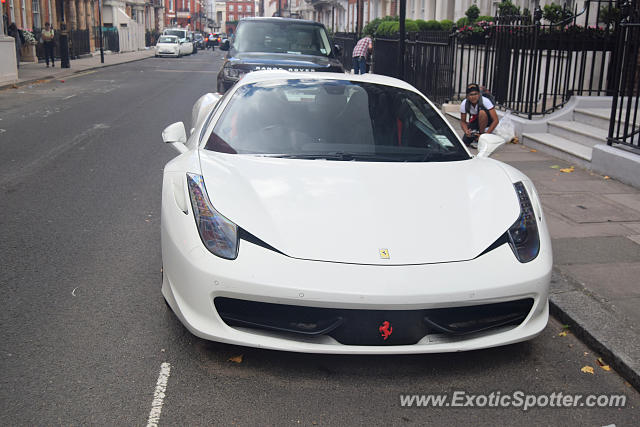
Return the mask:
<svg viewBox="0 0 640 427">
<path fill-rule="evenodd" d="M 238 88 L 205 149 L 360 161 L 454 161 L 469 155 L 420 95 L 391 86 L 286 80 Z"/>
</svg>

